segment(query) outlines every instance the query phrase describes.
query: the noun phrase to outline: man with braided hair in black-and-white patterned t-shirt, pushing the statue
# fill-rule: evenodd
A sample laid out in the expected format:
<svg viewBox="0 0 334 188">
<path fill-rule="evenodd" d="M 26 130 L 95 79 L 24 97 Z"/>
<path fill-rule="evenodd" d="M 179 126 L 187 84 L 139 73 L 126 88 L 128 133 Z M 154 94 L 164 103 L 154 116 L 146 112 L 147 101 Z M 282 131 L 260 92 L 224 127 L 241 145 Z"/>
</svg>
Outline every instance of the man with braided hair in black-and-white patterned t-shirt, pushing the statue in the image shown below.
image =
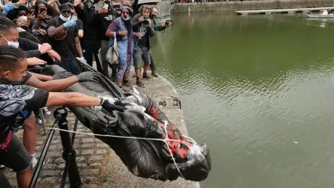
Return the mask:
<svg viewBox="0 0 334 188">
<path fill-rule="evenodd" d="M 28 84 L 26 58 L 22 50 L 8 45 L 0 45 L 0 164 L 17 173 L 19 187 L 29 187 L 33 176 L 31 155 L 22 141 L 13 134 L 10 127 L 17 122 L 17 116 L 26 109 L 46 106 L 70 105 L 74 107 L 101 106 L 112 113 L 125 111 L 125 107 L 111 104 L 99 97 L 90 97 L 82 93 L 52 93 Z M 65 80 L 65 79 L 63 79 Z M 69 81 L 80 80 L 79 76 L 68 77 Z"/>
</svg>

